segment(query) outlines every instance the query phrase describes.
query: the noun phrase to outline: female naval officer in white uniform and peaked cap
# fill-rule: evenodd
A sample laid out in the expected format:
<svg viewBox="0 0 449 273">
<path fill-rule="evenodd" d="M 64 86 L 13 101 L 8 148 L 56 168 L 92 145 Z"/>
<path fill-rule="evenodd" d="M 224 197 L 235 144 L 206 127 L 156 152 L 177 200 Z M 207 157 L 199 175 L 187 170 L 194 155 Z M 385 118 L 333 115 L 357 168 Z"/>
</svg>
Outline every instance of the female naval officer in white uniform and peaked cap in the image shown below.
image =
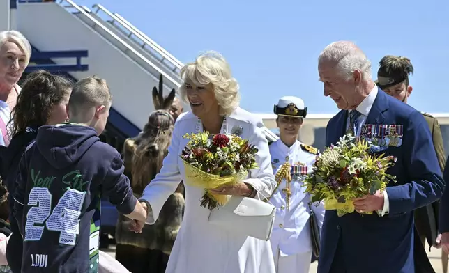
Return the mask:
<svg viewBox="0 0 449 273">
<path fill-rule="evenodd" d="M 313 253 L 310 210 L 321 231 L 324 207 L 311 203 L 305 193 L 303 179 L 312 172 L 312 164 L 319 153 L 317 148 L 298 141 L 307 107 L 300 98 L 280 98 L 274 107 L 280 139 L 271 143 L 271 164 L 277 187 L 269 199 L 276 207 L 275 225 L 271 234 L 271 248 L 277 273 L 308 273 Z"/>
</svg>

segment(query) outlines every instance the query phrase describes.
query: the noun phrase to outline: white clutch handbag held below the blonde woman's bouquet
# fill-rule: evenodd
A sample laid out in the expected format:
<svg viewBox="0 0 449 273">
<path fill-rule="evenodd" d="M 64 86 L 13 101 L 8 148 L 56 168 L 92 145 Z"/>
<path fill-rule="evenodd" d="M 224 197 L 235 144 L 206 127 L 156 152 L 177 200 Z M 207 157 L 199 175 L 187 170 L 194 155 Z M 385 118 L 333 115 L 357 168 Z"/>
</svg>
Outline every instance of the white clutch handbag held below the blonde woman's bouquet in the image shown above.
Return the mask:
<svg viewBox="0 0 449 273">
<path fill-rule="evenodd" d="M 275 206 L 254 198 L 231 196 L 226 205 L 209 214 L 211 224 L 241 235 L 268 241 L 275 221 Z"/>
</svg>

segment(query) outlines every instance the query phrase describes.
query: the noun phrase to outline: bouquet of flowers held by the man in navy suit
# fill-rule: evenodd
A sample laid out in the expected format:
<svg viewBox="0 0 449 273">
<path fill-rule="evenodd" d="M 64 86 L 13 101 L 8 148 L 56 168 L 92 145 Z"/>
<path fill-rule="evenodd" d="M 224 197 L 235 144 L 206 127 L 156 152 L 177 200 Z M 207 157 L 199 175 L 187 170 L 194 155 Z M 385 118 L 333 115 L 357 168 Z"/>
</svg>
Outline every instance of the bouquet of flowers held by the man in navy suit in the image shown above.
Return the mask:
<svg viewBox="0 0 449 273">
<path fill-rule="evenodd" d="M 395 158 L 369 153 L 370 142 L 347 134 L 335 146 L 317 157 L 311 173 L 304 180 L 305 192 L 312 201 L 324 201 L 326 210 L 337 210 L 338 216 L 353 212 L 353 198 L 374 194 L 395 182 L 395 176 L 386 173 Z M 372 214 L 372 212 L 365 212 Z"/>
</svg>

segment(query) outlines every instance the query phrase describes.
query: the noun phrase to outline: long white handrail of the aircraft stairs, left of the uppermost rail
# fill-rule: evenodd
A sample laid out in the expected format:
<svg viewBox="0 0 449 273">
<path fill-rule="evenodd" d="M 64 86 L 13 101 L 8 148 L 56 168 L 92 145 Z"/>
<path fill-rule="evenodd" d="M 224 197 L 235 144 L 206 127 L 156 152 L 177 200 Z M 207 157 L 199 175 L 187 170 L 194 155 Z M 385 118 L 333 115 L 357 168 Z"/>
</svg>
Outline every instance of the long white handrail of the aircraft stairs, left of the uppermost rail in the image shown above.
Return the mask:
<svg viewBox="0 0 449 273">
<path fill-rule="evenodd" d="M 67 2 L 70 4 L 70 6 L 63 6 L 63 3 Z M 148 61 L 148 59 L 146 59 L 142 54 L 140 54 L 139 52 L 137 52 L 134 48 L 132 48 L 130 45 L 128 45 L 127 42 L 125 42 L 123 39 L 119 38 L 119 36 L 116 36 L 116 34 L 114 34 L 112 31 L 110 31 L 109 29 L 107 29 L 106 26 L 103 26 L 100 22 L 98 22 L 98 20 L 96 20 L 95 18 L 93 18 L 91 15 L 89 15 L 89 13 L 86 13 L 86 10 L 84 10 L 84 8 L 78 6 L 76 3 L 74 3 L 72 0 L 59 0 L 59 4 L 61 6 L 63 6 L 64 8 L 75 8 L 79 13 L 82 13 L 84 16 L 88 17 L 89 20 L 91 20 L 92 22 L 94 22 L 98 27 L 100 27 L 103 31 L 105 31 L 106 33 L 108 33 L 110 36 L 112 36 L 114 39 L 116 39 L 117 41 L 119 41 L 123 46 L 125 46 L 130 52 L 132 52 L 133 54 L 137 55 L 139 58 L 141 58 L 147 65 L 150 65 L 152 68 L 154 68 L 158 73 L 162 74 L 163 77 L 165 77 L 165 79 L 167 79 L 168 81 L 171 81 L 172 84 L 174 84 L 174 86 L 179 86 L 178 82 L 173 79 L 172 77 L 170 77 L 169 75 L 167 75 L 167 73 L 165 73 L 164 71 L 160 70 L 160 68 L 158 68 L 158 66 L 154 65 L 153 63 L 151 63 L 151 61 Z M 151 72 L 150 72 L 151 74 Z M 153 77 L 155 77 L 157 79 L 157 76 L 153 75 Z"/>
</svg>

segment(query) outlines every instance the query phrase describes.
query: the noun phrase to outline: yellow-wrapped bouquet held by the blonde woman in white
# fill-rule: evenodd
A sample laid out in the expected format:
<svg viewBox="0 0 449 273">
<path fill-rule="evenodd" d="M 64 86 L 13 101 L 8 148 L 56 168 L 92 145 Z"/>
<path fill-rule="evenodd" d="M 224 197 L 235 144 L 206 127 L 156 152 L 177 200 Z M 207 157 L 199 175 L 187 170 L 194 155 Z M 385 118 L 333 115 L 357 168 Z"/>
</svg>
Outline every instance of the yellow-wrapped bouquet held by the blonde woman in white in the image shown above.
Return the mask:
<svg viewBox="0 0 449 273">
<path fill-rule="evenodd" d="M 184 182 L 204 189 L 201 198 L 204 208 L 213 210 L 225 205 L 231 197 L 212 194 L 208 189 L 234 185 L 245 179 L 250 169 L 257 168 L 258 149 L 234 134 L 199 132 L 183 137 L 189 139 L 181 153 L 187 178 Z"/>
</svg>

